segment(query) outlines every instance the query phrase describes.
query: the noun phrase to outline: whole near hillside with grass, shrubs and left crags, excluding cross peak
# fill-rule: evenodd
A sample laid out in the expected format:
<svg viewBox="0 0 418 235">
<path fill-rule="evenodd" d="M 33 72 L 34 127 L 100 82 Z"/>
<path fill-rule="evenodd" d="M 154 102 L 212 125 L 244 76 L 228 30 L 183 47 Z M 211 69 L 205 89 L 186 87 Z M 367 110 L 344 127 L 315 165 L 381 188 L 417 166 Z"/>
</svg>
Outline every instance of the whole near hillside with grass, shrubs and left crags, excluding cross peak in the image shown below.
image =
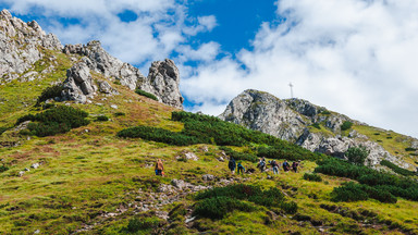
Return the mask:
<svg viewBox="0 0 418 235">
<path fill-rule="evenodd" d="M 0 20 L 13 54 L 0 61 L 0 234 L 418 234 L 417 176 L 183 112 L 172 61 L 145 77 L 97 41 L 63 47 L 34 22 Z M 260 157 L 302 165 L 261 173 Z"/>
</svg>

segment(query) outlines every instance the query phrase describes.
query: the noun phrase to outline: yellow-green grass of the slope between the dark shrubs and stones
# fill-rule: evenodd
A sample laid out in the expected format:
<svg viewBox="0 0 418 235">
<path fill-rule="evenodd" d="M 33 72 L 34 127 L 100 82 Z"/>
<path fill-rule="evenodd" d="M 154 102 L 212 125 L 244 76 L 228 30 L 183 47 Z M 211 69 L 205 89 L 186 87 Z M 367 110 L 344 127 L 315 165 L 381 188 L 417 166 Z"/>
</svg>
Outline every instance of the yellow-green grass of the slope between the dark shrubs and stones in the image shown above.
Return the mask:
<svg viewBox="0 0 418 235">
<path fill-rule="evenodd" d="M 34 112 L 30 107 L 42 88 L 53 81 L 62 81 L 65 67 L 69 67 L 71 62 L 63 54 L 57 57 L 65 65 L 49 78 L 1 87 L 2 97 L 9 100 L 0 106 L 4 113 L 0 118 L 2 126 L 10 126 L 19 116 Z M 97 74 L 95 76 L 104 79 Z M 170 121 L 171 111 L 174 109 L 140 97 L 122 86 L 114 84 L 112 86 L 116 87 L 121 95 L 114 97 L 99 95 L 93 100 L 93 104 L 72 104 L 89 112 L 91 121 L 102 114 L 109 116 L 111 121 L 91 122 L 88 126 L 64 135 L 32 137 L 19 147 L 0 148 L 1 158 L 11 164 L 9 171 L 0 173 L 0 234 L 30 234 L 36 230 L 45 234 L 69 234 L 84 227 L 84 224 L 95 223 L 97 224 L 93 228 L 83 233 L 114 234 L 121 232 L 134 217 L 133 209 L 130 208 L 125 213 L 107 220 L 100 219 L 99 215 L 103 212 L 116 212 L 121 207 L 147 199 L 148 193 L 155 191 L 158 184 L 170 184 L 173 178 L 183 178 L 193 184 L 207 185 L 210 183 L 200 180 L 202 174 L 213 174 L 219 178 L 231 176 L 226 163 L 216 159 L 219 152 L 217 146 L 208 146 L 209 152 L 204 152 L 199 145 L 173 147 L 140 139 L 116 138 L 115 133 L 120 129 L 138 124 L 171 131 L 181 131 L 183 124 Z M 26 88 L 32 89 L 20 92 Z M 15 94 L 19 96 L 14 96 Z M 26 100 L 29 106 L 22 107 L 19 103 L 20 99 Z M 119 109 L 110 108 L 111 104 L 116 104 Z M 116 112 L 123 112 L 125 115 L 115 116 Z M 360 127 L 356 129 L 362 134 L 367 132 Z M 10 138 L 10 136 L 20 138 L 10 132 L 1 137 Z M 403 148 L 405 147 L 396 146 L 394 151 Z M 175 156 L 182 150 L 195 152 L 199 160 L 196 162 L 175 160 Z M 167 176 L 156 181 L 152 164 L 158 158 L 164 160 Z M 16 176 L 20 171 L 39 161 L 44 162 L 39 169 L 26 172 L 23 177 Z M 253 163 L 244 162 L 244 164 L 248 168 Z M 320 221 L 321 228 L 325 232 L 403 234 L 397 228 L 399 226 L 388 225 L 397 223 L 418 233 L 416 213 L 418 202 L 398 199 L 396 205 L 380 203 L 376 200 L 334 203 L 330 201 L 330 193 L 347 180 L 322 175 L 324 182 L 321 183 L 304 181 L 303 174 L 311 172 L 316 164 L 306 161 L 303 165 L 299 173 L 281 172 L 280 175 L 273 175 L 272 180 L 267 180 L 267 173 L 258 172 L 245 177 L 249 184 L 261 185 L 265 188 L 281 188 L 288 200 L 298 203 L 299 214 L 308 215 L 310 221 Z M 188 207 L 194 200 L 192 197 L 186 197 L 180 202 Z M 335 206 L 337 210 L 322 209 L 324 206 Z M 163 209 L 170 211 L 173 207 L 169 205 Z M 361 211 L 378 215 L 365 219 L 369 222 L 353 219 L 353 214 L 359 214 Z M 319 227 L 314 227 L 311 222 L 297 221 L 293 215 L 279 214 L 274 219 L 269 219 L 269 211 L 263 207 L 259 207 L 259 210 L 253 213 L 235 211 L 219 221 L 199 219 L 196 224 L 199 230 L 219 234 L 296 232 L 320 234 Z M 183 227 L 183 232 L 197 232 L 196 227 L 186 228 L 182 225 L 179 227 Z"/>
</svg>

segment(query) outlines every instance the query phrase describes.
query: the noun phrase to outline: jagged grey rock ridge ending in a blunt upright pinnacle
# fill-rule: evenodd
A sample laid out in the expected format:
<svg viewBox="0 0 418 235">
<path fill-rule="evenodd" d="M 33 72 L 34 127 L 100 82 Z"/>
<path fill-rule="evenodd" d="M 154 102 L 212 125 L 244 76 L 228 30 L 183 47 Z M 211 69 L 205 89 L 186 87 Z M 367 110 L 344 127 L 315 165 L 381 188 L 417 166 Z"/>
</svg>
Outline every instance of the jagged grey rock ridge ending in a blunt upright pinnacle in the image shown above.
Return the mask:
<svg viewBox="0 0 418 235">
<path fill-rule="evenodd" d="M 179 89 L 180 74 L 172 60 L 153 62 L 148 77 L 145 77 L 137 67 L 110 55 L 99 41 L 65 45 L 63 52 L 83 55 L 82 61 L 91 71 L 101 73 L 111 81 L 118 81 L 132 90 L 138 88 L 150 92 L 162 103 L 183 109 L 183 97 Z"/>
</svg>

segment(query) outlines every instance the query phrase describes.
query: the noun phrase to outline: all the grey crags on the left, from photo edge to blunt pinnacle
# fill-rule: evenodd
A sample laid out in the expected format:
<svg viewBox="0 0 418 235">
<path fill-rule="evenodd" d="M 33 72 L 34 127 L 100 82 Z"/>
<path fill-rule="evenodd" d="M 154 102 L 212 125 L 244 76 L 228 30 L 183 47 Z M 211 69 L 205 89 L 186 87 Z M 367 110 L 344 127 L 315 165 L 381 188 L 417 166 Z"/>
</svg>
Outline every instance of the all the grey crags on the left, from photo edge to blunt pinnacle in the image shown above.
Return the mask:
<svg viewBox="0 0 418 235">
<path fill-rule="evenodd" d="M 162 103 L 183 109 L 183 97 L 179 89 L 180 73 L 173 61 L 165 59 L 153 62 L 146 77 L 137 67 L 110 55 L 99 41 L 63 47 L 54 35 L 47 35 L 35 21 L 24 23 L 7 10 L 0 12 L 0 85 L 14 79 L 27 82 L 48 76 L 59 64 L 51 64 L 51 67 L 41 71 L 42 74 L 35 66 L 42 66 L 42 59 L 54 60 L 50 51 L 63 52 L 73 62 L 73 67 L 62 78 L 65 79 L 64 90 L 57 100 L 85 103 L 97 91 L 119 94 L 107 82 L 110 81 L 131 90 L 143 89 L 153 94 Z M 101 74 L 107 81 L 97 79 L 91 73 Z"/>
</svg>

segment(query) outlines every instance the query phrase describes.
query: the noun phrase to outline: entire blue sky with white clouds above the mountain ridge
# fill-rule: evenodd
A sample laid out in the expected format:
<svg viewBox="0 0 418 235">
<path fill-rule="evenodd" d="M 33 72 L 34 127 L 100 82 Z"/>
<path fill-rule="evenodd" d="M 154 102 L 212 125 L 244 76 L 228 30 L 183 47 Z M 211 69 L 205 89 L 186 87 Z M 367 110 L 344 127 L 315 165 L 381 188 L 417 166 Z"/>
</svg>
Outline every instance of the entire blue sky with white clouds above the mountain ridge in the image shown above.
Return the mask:
<svg viewBox="0 0 418 235">
<path fill-rule="evenodd" d="M 416 0 L 0 0 L 63 44 L 98 39 L 147 75 L 174 60 L 187 111 L 245 89 L 418 137 Z"/>
</svg>

